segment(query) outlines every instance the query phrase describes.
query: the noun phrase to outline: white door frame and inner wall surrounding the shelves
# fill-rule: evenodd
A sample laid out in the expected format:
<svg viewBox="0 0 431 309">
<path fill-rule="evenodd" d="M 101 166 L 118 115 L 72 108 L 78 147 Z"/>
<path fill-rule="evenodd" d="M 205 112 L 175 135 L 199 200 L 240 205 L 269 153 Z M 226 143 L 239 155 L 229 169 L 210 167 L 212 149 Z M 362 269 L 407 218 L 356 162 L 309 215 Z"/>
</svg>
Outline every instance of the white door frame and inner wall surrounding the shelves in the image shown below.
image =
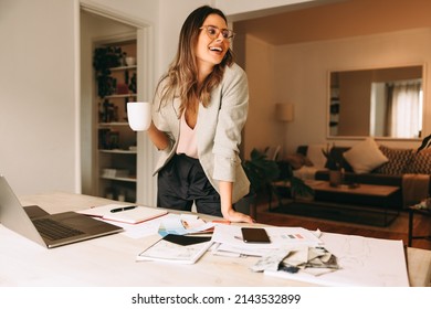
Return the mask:
<svg viewBox="0 0 431 309">
<path fill-rule="evenodd" d="M 135 38 L 137 42 L 137 100 L 147 100 L 151 89 L 149 26 L 140 21 L 130 20 L 115 12 L 107 12 L 94 7 L 81 6 L 81 182 L 82 193 L 97 195 L 97 180 L 101 171 L 97 169 L 97 109 L 94 108 L 96 97 L 95 76 L 93 73 L 93 51 L 96 43 L 122 41 Z M 144 196 L 151 199 L 155 188 L 151 181 L 144 181 L 151 163 L 143 158 L 151 158 L 146 140 L 139 136 L 137 141 L 137 174 L 136 202 L 144 203 Z"/>
</svg>

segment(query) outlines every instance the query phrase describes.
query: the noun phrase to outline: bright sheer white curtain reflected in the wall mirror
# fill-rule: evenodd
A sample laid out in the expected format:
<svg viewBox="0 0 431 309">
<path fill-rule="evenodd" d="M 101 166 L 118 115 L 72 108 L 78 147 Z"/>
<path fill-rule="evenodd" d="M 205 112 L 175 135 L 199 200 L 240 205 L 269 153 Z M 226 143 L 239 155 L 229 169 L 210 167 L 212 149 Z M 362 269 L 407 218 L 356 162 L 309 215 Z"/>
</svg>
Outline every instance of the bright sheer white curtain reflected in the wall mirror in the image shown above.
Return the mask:
<svg viewBox="0 0 431 309">
<path fill-rule="evenodd" d="M 387 136 L 419 137 L 422 129 L 421 82 L 392 83 L 387 90 Z"/>
</svg>

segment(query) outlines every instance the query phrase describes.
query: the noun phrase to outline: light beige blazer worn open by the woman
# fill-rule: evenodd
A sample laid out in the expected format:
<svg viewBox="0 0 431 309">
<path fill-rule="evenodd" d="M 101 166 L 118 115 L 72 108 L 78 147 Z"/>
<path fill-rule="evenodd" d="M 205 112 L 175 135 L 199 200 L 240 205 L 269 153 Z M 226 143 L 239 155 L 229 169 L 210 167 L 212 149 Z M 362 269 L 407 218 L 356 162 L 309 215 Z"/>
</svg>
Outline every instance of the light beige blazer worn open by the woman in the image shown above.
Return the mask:
<svg viewBox="0 0 431 309">
<path fill-rule="evenodd" d="M 172 158 L 177 150 L 180 128 L 178 98 L 162 105 L 156 94 L 153 120 L 165 131 L 170 147 L 160 150 L 155 174 Z M 207 178 L 219 190 L 219 181 L 233 182 L 232 202 L 249 193 L 250 182 L 241 166 L 239 146 L 241 131 L 249 110 L 249 86 L 245 72 L 236 64 L 227 67 L 220 85 L 211 93 L 207 108 L 200 106 L 197 122 L 199 161 Z"/>
</svg>

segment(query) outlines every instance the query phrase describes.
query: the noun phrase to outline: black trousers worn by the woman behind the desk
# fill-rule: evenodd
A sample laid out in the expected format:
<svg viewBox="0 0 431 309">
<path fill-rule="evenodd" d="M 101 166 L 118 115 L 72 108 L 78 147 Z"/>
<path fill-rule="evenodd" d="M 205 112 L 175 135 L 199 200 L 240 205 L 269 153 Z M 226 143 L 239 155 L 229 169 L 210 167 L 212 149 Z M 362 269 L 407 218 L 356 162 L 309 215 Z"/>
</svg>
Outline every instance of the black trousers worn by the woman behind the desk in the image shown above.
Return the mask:
<svg viewBox="0 0 431 309">
<path fill-rule="evenodd" d="M 222 216 L 220 194 L 211 185 L 198 159 L 175 154 L 157 178 L 157 206 Z"/>
</svg>

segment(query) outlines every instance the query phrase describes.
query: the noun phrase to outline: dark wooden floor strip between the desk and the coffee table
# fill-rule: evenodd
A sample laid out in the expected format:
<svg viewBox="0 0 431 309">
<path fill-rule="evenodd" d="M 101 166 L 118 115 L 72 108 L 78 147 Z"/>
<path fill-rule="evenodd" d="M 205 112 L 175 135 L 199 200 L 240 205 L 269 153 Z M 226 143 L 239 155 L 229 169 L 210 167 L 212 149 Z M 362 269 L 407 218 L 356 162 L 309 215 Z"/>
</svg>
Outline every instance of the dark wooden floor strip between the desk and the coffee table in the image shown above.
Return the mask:
<svg viewBox="0 0 431 309">
<path fill-rule="evenodd" d="M 408 213 L 401 212 L 400 215 L 389 226 L 378 227 L 348 222 L 274 213 L 269 211 L 266 200 L 257 203 L 256 207 L 257 223 L 271 224 L 275 226 L 301 226 L 311 231 L 318 228 L 322 232 L 360 235 L 374 238 L 402 239 L 406 246 L 408 244 Z M 414 216 L 413 226 L 414 235 L 430 235 L 431 217 L 421 215 Z M 413 239 L 412 247 L 431 249 L 431 242 L 427 239 Z"/>
</svg>

